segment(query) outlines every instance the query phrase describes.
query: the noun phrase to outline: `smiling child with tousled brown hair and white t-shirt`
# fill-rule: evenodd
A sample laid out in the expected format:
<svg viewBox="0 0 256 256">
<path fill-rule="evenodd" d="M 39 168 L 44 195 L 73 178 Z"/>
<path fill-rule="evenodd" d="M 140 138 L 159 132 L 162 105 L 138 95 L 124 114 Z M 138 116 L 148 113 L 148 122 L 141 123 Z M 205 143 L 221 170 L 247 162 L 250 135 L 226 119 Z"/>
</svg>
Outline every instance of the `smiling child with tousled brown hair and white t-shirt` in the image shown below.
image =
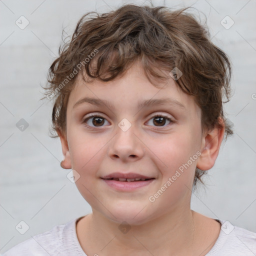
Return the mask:
<svg viewBox="0 0 256 256">
<path fill-rule="evenodd" d="M 255 255 L 256 233 L 190 209 L 216 160 L 230 63 L 185 9 L 127 4 L 78 22 L 49 69 L 61 166 L 92 213 L 9 255 Z"/>
</svg>

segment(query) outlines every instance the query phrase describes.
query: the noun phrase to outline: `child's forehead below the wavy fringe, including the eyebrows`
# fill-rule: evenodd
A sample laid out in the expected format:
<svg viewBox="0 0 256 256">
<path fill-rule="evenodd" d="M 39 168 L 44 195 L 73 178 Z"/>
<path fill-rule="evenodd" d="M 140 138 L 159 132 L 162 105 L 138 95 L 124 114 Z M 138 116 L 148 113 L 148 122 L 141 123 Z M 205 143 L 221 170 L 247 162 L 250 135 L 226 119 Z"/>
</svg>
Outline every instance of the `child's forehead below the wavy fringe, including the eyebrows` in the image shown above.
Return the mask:
<svg viewBox="0 0 256 256">
<path fill-rule="evenodd" d="M 106 105 L 113 109 L 169 103 L 186 110 L 198 111 L 194 98 L 184 93 L 172 77 L 165 81 L 156 78 L 152 81 L 156 86 L 148 80 L 139 62 L 135 62 L 121 77 L 107 82 L 94 79 L 86 83 L 79 74 L 69 95 L 68 108 L 84 102 Z"/>
</svg>

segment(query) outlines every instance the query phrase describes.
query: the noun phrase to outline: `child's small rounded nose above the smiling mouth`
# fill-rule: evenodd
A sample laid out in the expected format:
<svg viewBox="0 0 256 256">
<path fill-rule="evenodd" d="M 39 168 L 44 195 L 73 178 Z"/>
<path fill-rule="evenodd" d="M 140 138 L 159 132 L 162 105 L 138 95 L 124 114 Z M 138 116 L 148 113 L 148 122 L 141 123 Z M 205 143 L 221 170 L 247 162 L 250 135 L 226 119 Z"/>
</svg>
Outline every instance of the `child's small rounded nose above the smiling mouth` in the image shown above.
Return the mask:
<svg viewBox="0 0 256 256">
<path fill-rule="evenodd" d="M 116 127 L 116 133 L 108 148 L 108 155 L 112 159 L 122 161 L 136 161 L 144 154 L 144 144 L 138 131 L 131 125 L 127 130 Z"/>
</svg>

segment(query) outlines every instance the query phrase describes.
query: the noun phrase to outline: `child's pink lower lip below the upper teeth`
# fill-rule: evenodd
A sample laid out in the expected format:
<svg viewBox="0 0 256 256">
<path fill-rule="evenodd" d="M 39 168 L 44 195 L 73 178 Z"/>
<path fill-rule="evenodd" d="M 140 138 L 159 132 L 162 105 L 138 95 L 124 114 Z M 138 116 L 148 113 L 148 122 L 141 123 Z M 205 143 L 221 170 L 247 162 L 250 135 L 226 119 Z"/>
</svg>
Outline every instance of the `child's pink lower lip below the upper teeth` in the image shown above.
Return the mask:
<svg viewBox="0 0 256 256">
<path fill-rule="evenodd" d="M 103 179 L 109 186 L 121 191 L 131 191 L 136 188 L 150 184 L 154 178 L 140 181 L 119 181 L 114 179 Z"/>
</svg>

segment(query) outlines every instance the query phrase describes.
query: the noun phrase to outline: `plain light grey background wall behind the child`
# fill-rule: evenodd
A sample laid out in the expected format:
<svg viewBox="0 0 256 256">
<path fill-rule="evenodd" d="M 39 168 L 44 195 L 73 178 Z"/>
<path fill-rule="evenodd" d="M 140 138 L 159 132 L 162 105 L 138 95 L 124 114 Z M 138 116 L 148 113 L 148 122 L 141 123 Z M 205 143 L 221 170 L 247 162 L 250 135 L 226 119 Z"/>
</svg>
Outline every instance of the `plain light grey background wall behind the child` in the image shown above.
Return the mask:
<svg viewBox="0 0 256 256">
<path fill-rule="evenodd" d="M 67 179 L 70 170 L 59 165 L 60 141 L 48 135 L 52 105 L 47 99 L 39 100 L 40 84 L 46 84 L 62 28 L 71 35 L 85 12 L 105 12 L 131 2 L 143 3 L 0 0 L 0 252 L 91 211 L 75 184 Z M 199 186 L 193 193 L 191 207 L 256 232 L 256 1 L 152 2 L 169 7 L 192 5 L 202 11 L 212 41 L 228 54 L 233 67 L 233 97 L 224 109 L 234 123 L 234 135 L 221 146 L 205 179 L 206 187 Z M 15 24 L 21 15 L 29 21 L 24 29 Z M 226 15 L 234 21 L 229 29 L 220 24 Z M 204 16 L 200 16 L 203 21 Z M 29 124 L 24 131 L 15 125 L 21 118 Z M 21 220 L 29 226 L 23 235 L 15 229 Z"/>
</svg>

